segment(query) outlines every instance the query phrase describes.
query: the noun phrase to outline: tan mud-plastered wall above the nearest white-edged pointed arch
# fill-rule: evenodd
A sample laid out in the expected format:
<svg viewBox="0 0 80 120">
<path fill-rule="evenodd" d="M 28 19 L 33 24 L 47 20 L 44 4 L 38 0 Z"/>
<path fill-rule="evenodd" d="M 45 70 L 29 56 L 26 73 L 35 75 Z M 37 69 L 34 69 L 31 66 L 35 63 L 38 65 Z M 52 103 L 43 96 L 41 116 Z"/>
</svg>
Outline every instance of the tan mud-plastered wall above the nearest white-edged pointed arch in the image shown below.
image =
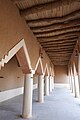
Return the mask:
<svg viewBox="0 0 80 120">
<path fill-rule="evenodd" d="M 19 10 L 11 0 L 0 1 L 0 59 L 21 39 L 25 40 L 34 69 L 39 58 L 40 45 L 32 31 L 20 16 Z M 6 45 L 5 45 L 6 43 Z M 36 54 L 35 54 L 36 53 Z M 46 56 L 46 54 L 45 54 Z M 49 59 L 49 58 L 47 58 Z"/>
</svg>

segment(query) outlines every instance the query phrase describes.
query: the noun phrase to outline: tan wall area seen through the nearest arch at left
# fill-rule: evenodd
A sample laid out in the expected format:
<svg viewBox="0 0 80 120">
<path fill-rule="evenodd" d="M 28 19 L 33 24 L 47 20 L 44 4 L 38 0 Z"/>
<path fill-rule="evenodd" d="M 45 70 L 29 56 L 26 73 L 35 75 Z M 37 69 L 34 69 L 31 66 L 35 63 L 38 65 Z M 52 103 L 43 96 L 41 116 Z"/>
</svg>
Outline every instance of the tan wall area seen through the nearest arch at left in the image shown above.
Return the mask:
<svg viewBox="0 0 80 120">
<path fill-rule="evenodd" d="M 16 58 L 12 58 L 0 71 L 0 91 L 19 88 L 23 86 L 24 75 L 17 65 Z"/>
</svg>

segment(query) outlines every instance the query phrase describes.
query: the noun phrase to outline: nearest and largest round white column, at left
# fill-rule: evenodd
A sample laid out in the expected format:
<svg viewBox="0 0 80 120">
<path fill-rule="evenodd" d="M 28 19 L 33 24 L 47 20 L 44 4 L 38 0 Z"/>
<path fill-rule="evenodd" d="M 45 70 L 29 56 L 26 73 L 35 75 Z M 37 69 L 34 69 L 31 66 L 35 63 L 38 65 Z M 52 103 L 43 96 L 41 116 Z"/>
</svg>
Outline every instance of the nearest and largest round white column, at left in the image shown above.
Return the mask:
<svg viewBox="0 0 80 120">
<path fill-rule="evenodd" d="M 33 74 L 26 74 L 24 80 L 23 110 L 22 117 L 32 117 L 32 91 L 33 91 Z"/>
</svg>

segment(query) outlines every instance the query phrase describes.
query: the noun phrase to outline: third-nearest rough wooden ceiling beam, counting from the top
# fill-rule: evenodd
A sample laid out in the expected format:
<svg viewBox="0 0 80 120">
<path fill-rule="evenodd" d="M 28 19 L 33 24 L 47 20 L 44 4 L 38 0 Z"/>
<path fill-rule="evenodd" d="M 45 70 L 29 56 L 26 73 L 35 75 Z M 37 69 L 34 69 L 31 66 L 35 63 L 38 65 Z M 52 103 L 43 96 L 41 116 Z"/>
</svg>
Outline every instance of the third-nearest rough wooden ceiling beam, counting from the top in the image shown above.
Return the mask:
<svg viewBox="0 0 80 120">
<path fill-rule="evenodd" d="M 31 30 L 33 31 L 33 33 L 43 33 L 43 32 L 48 32 L 53 30 L 74 27 L 74 26 L 80 26 L 80 19 L 72 20 L 65 23 L 62 22 L 62 23 L 56 23 L 52 25 L 46 25 L 42 27 L 32 27 Z"/>
</svg>

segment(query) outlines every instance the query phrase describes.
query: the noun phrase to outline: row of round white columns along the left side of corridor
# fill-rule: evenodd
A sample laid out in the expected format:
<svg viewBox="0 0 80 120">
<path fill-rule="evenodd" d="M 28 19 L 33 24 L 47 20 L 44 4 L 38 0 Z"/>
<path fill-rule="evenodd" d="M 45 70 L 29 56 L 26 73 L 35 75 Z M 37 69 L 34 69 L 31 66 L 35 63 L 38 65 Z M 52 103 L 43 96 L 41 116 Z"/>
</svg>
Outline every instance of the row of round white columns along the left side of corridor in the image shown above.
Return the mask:
<svg viewBox="0 0 80 120">
<path fill-rule="evenodd" d="M 38 76 L 38 102 L 44 102 L 44 95 L 49 95 L 54 89 L 54 77 Z M 33 94 L 33 74 L 26 74 L 24 80 L 23 110 L 22 117 L 30 118 L 32 116 L 32 94 Z"/>
</svg>

